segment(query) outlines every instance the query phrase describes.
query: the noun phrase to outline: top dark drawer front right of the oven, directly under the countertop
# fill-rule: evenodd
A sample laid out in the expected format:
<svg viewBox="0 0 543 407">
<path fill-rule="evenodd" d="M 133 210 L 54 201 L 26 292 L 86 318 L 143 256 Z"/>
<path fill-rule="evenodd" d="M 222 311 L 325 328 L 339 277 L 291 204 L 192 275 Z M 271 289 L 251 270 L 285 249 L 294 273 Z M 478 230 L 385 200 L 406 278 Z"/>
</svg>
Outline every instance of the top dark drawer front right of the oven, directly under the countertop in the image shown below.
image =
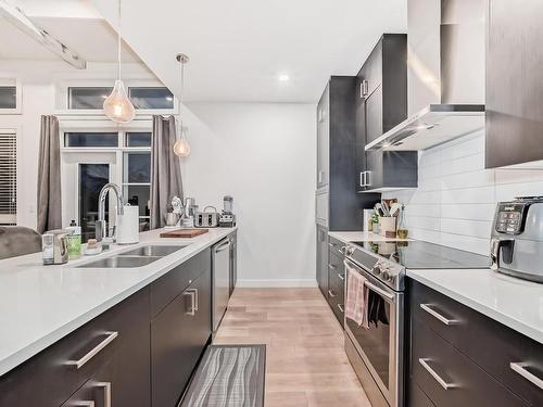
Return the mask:
<svg viewBox="0 0 543 407">
<path fill-rule="evenodd" d="M 541 344 L 424 284 L 413 281 L 411 287 L 415 319 L 430 327 L 530 405 L 543 405 L 543 390 L 510 365 L 520 364 L 543 380 Z"/>
</svg>

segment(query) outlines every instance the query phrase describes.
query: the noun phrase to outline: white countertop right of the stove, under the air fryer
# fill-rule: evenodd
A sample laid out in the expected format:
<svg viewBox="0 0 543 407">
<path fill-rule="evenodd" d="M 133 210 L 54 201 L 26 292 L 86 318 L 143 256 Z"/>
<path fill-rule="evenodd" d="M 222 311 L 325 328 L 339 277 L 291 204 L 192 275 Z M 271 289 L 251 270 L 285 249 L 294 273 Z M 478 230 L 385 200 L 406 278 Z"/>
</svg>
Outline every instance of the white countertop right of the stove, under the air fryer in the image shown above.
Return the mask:
<svg viewBox="0 0 543 407">
<path fill-rule="evenodd" d="M 543 284 L 483 270 L 407 270 L 407 276 L 543 344 Z"/>
</svg>

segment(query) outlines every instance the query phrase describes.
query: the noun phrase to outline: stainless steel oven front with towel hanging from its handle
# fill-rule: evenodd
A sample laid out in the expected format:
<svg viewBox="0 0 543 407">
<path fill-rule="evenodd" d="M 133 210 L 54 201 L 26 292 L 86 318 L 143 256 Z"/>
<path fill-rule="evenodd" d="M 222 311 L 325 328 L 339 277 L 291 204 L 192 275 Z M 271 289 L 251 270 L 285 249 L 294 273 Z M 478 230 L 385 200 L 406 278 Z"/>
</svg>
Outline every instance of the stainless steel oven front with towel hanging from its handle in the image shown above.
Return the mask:
<svg viewBox="0 0 543 407">
<path fill-rule="evenodd" d="M 345 351 L 374 407 L 402 406 L 404 402 L 404 294 L 392 290 L 371 270 L 351 259 L 345 266 L 366 279 L 369 328 L 345 318 Z M 382 272 L 381 272 L 382 274 Z M 348 284 L 346 272 L 345 284 Z M 345 289 L 345 295 L 349 290 Z"/>
</svg>

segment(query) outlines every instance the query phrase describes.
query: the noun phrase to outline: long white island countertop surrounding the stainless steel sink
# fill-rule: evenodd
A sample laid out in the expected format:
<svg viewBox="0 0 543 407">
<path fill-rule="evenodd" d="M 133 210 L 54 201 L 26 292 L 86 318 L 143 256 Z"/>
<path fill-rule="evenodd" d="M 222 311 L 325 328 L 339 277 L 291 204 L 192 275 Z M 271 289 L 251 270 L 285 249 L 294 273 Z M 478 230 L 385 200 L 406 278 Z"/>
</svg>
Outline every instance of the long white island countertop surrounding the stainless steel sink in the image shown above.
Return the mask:
<svg viewBox="0 0 543 407">
<path fill-rule="evenodd" d="M 210 229 L 192 239 L 140 234 L 138 245 L 188 246 L 138 268 L 76 268 L 138 245 L 112 245 L 96 256 L 43 266 L 41 253 L 0 260 L 0 376 L 81 327 L 236 228 Z"/>
</svg>

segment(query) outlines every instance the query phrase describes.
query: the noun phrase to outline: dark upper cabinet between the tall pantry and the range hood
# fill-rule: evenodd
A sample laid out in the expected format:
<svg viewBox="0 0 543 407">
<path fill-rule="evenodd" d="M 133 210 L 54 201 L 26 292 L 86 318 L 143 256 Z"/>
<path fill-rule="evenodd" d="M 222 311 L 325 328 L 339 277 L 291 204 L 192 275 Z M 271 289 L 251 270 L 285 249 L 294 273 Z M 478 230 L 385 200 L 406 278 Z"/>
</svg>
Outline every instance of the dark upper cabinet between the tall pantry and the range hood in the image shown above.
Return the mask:
<svg viewBox="0 0 543 407">
<path fill-rule="evenodd" d="M 356 190 L 417 187 L 417 152 L 367 143 L 407 118 L 407 35 L 383 34 L 356 75 Z"/>
</svg>

